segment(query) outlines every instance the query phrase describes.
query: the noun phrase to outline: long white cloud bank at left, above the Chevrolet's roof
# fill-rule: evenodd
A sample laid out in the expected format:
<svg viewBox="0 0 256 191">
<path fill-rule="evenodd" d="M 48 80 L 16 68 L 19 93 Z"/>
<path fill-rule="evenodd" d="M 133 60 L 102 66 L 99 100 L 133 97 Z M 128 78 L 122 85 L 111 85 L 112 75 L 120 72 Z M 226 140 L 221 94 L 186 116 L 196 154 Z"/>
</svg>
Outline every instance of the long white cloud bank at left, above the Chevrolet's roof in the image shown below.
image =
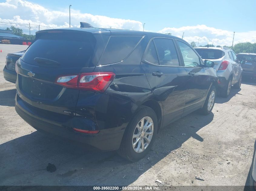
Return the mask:
<svg viewBox="0 0 256 191">
<path fill-rule="evenodd" d="M 10 11 L 10 9 L 12 11 Z M 7 23 L 20 23 L 42 25 L 53 28 L 69 27 L 69 10 L 62 9 L 61 11 L 53 11 L 44 8 L 41 5 L 33 4 L 24 0 L 6 0 L 0 3 L 0 21 Z M 71 8 L 71 27 L 80 27 L 80 21 L 88 22 L 94 27 L 103 28 L 119 28 L 129 30 L 143 30 L 140 21 L 110 18 L 101 15 L 92 15 L 88 13 L 81 13 L 79 10 Z M 15 25 L 24 29 L 25 33 L 29 33 L 28 26 Z M 5 25 L 0 24 L 1 28 Z M 8 26 L 7 26 L 8 27 Z M 45 27 L 40 27 L 45 29 Z M 38 30 L 38 27 L 31 29 L 33 33 Z"/>
</svg>

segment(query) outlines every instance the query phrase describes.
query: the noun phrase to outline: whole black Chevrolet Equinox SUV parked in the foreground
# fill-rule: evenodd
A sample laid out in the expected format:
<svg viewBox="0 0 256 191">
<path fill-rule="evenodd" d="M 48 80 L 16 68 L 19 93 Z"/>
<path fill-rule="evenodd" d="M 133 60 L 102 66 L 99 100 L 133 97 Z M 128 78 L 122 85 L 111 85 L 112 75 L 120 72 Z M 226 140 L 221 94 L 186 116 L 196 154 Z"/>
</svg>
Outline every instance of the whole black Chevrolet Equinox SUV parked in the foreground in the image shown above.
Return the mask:
<svg viewBox="0 0 256 191">
<path fill-rule="evenodd" d="M 15 110 L 39 131 L 137 161 L 161 127 L 195 110 L 211 112 L 213 64 L 160 33 L 41 30 L 16 62 Z"/>
</svg>

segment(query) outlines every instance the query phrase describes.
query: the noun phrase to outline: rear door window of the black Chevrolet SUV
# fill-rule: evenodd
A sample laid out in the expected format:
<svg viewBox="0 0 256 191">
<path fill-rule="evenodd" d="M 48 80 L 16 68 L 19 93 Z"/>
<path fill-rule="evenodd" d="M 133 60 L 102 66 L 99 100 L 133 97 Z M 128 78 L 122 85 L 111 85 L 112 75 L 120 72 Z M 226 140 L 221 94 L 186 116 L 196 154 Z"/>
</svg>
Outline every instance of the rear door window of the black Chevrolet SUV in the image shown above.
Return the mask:
<svg viewBox="0 0 256 191">
<path fill-rule="evenodd" d="M 160 65 L 179 66 L 177 52 L 171 39 L 154 39 Z"/>
</svg>

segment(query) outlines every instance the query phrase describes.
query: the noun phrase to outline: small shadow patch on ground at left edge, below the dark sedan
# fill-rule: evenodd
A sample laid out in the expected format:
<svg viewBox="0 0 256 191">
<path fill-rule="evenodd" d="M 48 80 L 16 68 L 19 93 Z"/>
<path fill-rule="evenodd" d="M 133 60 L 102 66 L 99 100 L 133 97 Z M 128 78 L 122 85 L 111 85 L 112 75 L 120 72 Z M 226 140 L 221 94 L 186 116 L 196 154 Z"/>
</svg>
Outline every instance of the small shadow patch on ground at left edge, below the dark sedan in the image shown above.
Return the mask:
<svg viewBox="0 0 256 191">
<path fill-rule="evenodd" d="M 16 89 L 0 91 L 0 105 L 15 106 Z"/>
</svg>

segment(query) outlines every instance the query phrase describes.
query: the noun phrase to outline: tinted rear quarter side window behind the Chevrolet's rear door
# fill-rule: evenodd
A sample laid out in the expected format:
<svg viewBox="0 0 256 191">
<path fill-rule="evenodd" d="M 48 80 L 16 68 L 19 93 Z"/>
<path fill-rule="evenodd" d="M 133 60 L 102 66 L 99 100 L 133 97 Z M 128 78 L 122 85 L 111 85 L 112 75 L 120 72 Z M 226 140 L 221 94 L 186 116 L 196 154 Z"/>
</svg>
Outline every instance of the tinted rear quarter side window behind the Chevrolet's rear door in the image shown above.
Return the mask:
<svg viewBox="0 0 256 191">
<path fill-rule="evenodd" d="M 124 60 L 141 40 L 141 36 L 111 36 L 98 65 Z"/>
</svg>

